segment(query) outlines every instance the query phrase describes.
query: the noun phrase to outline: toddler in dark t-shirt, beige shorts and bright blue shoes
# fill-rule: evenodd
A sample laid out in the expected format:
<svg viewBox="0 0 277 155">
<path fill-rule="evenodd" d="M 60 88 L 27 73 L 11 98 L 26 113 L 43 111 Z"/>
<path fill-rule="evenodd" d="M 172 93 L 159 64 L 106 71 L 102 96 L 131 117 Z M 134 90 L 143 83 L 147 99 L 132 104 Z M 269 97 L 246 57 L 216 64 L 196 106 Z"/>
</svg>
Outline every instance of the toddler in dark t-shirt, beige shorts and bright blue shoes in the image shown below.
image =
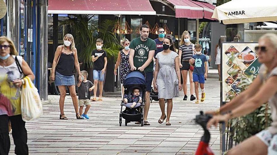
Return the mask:
<svg viewBox="0 0 277 155">
<path fill-rule="evenodd" d="M 89 119 L 87 113 L 90 108 L 90 92 L 94 89 L 94 85 L 91 81 L 87 80 L 88 72 L 83 70 L 81 71 L 81 75 L 83 76 L 82 81 L 77 84 L 78 89 L 78 99 L 79 99 L 79 112 L 83 113 L 83 107 L 86 106 L 85 112 L 82 114 L 82 117 Z"/>
</svg>

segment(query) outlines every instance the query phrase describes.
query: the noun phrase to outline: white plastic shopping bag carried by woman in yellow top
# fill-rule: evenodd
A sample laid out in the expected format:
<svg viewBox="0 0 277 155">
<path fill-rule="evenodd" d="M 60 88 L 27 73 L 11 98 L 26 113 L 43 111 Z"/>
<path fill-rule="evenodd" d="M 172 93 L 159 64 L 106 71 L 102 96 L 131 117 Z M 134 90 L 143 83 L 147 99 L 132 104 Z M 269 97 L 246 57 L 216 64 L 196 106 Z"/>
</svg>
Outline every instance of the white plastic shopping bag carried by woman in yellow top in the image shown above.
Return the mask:
<svg viewBox="0 0 277 155">
<path fill-rule="evenodd" d="M 21 112 L 23 121 L 31 121 L 42 115 L 42 103 L 37 88 L 29 77 L 23 78 L 21 90 Z"/>
</svg>

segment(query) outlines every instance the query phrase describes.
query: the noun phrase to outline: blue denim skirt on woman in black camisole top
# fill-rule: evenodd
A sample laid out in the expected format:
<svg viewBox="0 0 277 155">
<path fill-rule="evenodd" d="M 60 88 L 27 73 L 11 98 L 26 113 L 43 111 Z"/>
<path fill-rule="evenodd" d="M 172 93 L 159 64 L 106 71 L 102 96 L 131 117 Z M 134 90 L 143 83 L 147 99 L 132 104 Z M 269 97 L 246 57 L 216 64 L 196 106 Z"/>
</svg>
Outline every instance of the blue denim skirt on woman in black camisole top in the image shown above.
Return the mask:
<svg viewBox="0 0 277 155">
<path fill-rule="evenodd" d="M 55 86 L 59 85 L 75 85 L 75 78 L 74 75 L 65 76 L 56 72 L 55 76 Z"/>
</svg>

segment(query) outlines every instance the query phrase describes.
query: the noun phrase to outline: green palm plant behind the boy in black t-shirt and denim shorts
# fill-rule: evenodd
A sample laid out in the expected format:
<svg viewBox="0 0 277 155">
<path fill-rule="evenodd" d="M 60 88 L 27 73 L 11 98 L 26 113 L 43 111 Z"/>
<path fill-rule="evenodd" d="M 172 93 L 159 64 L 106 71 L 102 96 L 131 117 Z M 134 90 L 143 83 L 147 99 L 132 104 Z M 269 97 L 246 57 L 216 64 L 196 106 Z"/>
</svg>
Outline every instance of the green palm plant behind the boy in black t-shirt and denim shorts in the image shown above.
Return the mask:
<svg viewBox="0 0 277 155">
<path fill-rule="evenodd" d="M 113 32 L 116 21 L 106 19 L 98 25 L 93 17 L 94 15 L 74 14 L 73 18 L 59 21 L 59 27 L 63 27 L 66 33 L 74 36 L 79 61 L 86 64 L 88 68 L 93 66 L 91 52 L 96 49 L 96 39 L 103 39 L 103 49 L 108 59 L 116 56 L 120 48 Z"/>
</svg>

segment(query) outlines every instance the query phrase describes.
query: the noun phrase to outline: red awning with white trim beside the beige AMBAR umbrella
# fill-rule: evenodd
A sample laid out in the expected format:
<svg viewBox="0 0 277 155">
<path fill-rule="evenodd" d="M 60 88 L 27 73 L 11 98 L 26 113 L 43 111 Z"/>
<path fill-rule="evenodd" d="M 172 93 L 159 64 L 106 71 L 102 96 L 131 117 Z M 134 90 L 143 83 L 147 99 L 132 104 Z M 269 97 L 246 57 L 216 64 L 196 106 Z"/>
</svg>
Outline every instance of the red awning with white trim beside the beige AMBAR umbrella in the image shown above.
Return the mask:
<svg viewBox="0 0 277 155">
<path fill-rule="evenodd" d="M 195 1 L 195 0 L 167 0 L 172 3 L 175 8 L 176 18 L 193 18 L 193 19 L 211 19 L 213 9 L 212 4 Z"/>
</svg>

